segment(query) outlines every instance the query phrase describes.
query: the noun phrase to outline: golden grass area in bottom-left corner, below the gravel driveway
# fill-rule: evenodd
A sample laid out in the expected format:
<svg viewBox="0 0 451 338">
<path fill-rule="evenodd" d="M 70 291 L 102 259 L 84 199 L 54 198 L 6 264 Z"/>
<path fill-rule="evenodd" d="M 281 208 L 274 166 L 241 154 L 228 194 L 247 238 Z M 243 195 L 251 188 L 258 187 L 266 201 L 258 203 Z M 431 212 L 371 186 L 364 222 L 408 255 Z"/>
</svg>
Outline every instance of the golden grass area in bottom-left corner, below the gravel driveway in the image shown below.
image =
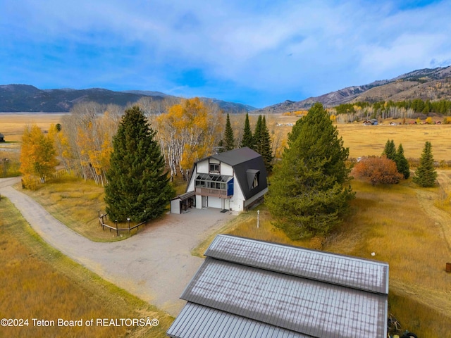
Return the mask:
<svg viewBox="0 0 451 338">
<path fill-rule="evenodd" d="M 0 214 L 0 318 L 28 320 L 24 327 L 0 327 L 0 337 L 166 337 L 172 317 L 45 244 L 8 199 L 0 200 Z M 159 325 L 96 325 L 97 318 L 147 317 Z M 35 326 L 32 318 L 54 320 L 55 326 Z M 58 318 L 82 319 L 83 325 L 58 327 Z M 87 327 L 91 319 L 94 325 Z"/>
</svg>

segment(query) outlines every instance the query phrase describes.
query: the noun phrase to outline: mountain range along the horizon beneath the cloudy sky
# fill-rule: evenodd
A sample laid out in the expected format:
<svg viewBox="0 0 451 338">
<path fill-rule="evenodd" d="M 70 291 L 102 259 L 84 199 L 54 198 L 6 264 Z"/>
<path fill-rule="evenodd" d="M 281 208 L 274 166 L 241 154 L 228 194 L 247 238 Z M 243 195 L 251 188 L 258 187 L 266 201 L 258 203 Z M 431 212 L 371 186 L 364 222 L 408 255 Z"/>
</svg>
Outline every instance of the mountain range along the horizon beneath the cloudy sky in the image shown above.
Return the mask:
<svg viewBox="0 0 451 338">
<path fill-rule="evenodd" d="M 151 96 L 154 100 L 177 98 L 162 92 L 141 90 L 114 92 L 101 88 L 38 89 L 29 84 L 4 84 L 0 85 L 0 112 L 67 112 L 74 104 L 82 101 L 127 106 L 144 96 Z M 218 99 L 201 99 L 213 101 L 226 113 L 284 113 L 308 109 L 316 102 L 330 107 L 357 101 L 451 100 L 451 66 L 414 70 L 390 80 L 347 87 L 302 101 L 287 100 L 261 109 Z"/>
</svg>

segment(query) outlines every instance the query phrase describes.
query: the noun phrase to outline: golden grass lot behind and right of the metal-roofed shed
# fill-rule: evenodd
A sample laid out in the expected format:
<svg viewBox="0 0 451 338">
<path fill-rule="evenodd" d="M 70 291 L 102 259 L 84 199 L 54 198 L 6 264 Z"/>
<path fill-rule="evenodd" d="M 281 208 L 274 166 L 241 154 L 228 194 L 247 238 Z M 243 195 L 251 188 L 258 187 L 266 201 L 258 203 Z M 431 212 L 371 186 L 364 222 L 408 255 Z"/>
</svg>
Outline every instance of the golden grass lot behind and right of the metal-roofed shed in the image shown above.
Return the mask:
<svg viewBox="0 0 451 338">
<path fill-rule="evenodd" d="M 443 181 L 449 184 L 444 188 L 448 192 L 449 182 Z M 273 227 L 264 206 L 257 208 L 259 228 L 256 209 L 240 214 L 218 233 L 386 261 L 390 313 L 419 337 L 451 337 L 451 274 L 445 273 L 445 263 L 451 261 L 451 213 L 440 213 L 434 206 L 434 201 L 443 205 L 441 188 L 419 189 L 410 180 L 376 187 L 354 181 L 352 187 L 357 192 L 352 214 L 326 239 L 288 239 Z M 193 254 L 202 256 L 213 238 Z"/>
</svg>

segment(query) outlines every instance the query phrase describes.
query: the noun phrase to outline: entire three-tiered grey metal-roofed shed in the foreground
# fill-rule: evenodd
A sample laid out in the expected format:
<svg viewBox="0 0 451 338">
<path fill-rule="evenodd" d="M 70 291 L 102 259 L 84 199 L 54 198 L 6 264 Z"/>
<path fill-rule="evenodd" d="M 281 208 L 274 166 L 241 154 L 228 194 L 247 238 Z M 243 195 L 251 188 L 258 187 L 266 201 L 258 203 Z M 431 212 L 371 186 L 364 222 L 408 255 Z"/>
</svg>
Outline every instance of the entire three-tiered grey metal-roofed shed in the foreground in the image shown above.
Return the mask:
<svg viewBox="0 0 451 338">
<path fill-rule="evenodd" d="M 388 263 L 225 234 L 205 256 L 168 337 L 386 336 Z"/>
</svg>

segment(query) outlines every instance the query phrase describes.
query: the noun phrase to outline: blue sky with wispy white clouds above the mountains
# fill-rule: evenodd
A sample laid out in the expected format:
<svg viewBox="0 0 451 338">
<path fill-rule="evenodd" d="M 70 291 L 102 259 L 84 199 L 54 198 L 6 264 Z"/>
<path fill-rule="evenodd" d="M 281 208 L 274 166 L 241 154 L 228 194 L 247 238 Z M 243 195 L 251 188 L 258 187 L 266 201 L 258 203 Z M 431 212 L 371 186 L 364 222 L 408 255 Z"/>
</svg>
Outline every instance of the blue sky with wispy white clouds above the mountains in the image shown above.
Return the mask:
<svg viewBox="0 0 451 338">
<path fill-rule="evenodd" d="M 0 0 L 0 84 L 258 108 L 451 65 L 451 1 Z"/>
</svg>

